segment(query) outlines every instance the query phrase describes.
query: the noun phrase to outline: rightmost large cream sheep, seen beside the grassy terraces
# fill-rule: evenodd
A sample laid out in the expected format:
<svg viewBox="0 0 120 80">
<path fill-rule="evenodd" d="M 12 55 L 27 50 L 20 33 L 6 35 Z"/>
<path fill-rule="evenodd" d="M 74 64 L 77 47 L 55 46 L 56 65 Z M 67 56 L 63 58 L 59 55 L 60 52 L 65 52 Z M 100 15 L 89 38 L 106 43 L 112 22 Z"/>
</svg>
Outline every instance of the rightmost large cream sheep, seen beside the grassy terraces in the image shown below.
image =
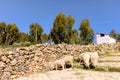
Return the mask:
<svg viewBox="0 0 120 80">
<path fill-rule="evenodd" d="M 90 55 L 90 68 L 95 68 L 97 67 L 98 60 L 99 60 L 99 55 L 97 52 L 89 52 Z"/>
</svg>

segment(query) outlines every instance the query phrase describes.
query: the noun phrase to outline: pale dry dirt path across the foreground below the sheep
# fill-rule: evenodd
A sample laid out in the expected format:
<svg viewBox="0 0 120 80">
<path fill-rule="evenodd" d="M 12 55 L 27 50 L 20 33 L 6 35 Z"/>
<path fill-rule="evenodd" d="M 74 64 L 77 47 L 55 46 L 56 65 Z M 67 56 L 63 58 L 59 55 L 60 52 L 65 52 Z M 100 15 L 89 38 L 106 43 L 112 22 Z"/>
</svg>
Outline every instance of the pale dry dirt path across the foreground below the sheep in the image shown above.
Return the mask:
<svg viewBox="0 0 120 80">
<path fill-rule="evenodd" d="M 35 73 L 14 80 L 120 80 L 120 73 L 65 69 Z"/>
</svg>

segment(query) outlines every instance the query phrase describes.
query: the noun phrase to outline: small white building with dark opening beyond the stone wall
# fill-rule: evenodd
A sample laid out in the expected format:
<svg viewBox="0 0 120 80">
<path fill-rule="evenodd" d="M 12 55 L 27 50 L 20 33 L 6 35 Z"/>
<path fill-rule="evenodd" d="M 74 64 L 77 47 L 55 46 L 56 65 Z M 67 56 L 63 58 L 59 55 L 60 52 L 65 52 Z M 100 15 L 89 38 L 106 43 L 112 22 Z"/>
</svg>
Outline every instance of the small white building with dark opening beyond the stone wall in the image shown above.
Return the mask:
<svg viewBox="0 0 120 80">
<path fill-rule="evenodd" d="M 111 38 L 108 34 L 101 34 L 101 33 L 96 34 L 96 41 L 97 44 L 116 43 L 116 39 Z"/>
</svg>

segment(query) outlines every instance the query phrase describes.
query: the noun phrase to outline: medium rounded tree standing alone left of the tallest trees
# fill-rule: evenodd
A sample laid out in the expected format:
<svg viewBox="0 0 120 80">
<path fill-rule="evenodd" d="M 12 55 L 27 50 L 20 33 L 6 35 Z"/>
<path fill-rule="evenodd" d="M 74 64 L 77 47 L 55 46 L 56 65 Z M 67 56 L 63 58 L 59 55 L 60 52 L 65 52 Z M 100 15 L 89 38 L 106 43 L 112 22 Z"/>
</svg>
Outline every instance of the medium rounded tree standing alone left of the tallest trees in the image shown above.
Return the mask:
<svg viewBox="0 0 120 80">
<path fill-rule="evenodd" d="M 30 37 L 32 42 L 41 43 L 41 34 L 43 32 L 42 27 L 38 23 L 33 23 L 30 25 Z"/>
</svg>

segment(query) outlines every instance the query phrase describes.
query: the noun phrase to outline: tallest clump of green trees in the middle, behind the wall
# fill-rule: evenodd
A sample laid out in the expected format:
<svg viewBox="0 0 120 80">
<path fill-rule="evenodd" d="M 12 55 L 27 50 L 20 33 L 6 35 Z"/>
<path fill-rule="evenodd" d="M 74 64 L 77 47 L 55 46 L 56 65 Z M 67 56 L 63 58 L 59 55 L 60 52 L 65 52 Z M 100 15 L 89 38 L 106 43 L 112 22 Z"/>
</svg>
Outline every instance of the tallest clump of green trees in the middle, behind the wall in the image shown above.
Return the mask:
<svg viewBox="0 0 120 80">
<path fill-rule="evenodd" d="M 55 18 L 53 29 L 50 32 L 50 38 L 56 43 L 76 43 L 77 35 L 74 34 L 72 26 L 74 25 L 75 19 L 72 16 L 66 17 L 60 13 Z M 75 35 L 75 37 L 74 37 Z M 76 41 L 74 41 L 76 40 Z"/>
</svg>

